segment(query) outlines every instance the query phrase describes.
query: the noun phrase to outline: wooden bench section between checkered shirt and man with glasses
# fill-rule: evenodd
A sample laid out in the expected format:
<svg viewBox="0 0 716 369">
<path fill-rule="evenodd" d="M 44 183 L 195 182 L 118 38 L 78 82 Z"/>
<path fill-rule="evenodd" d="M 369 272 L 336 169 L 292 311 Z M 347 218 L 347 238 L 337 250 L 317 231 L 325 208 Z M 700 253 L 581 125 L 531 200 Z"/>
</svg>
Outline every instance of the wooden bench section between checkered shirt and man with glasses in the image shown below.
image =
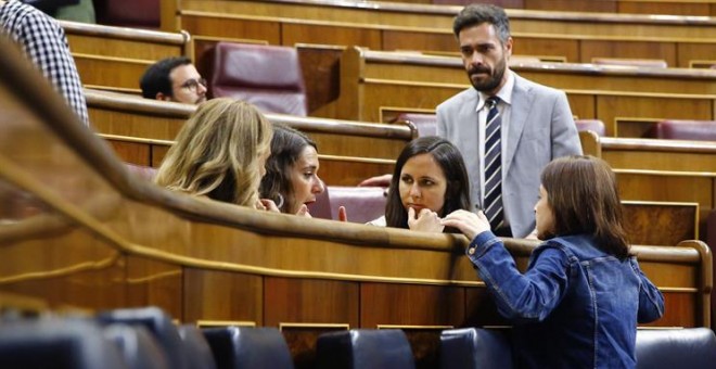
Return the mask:
<svg viewBox="0 0 716 369">
<path fill-rule="evenodd" d="M 186 31 L 164 33 L 60 21 L 86 87 L 139 93 L 148 66 L 168 56 L 193 58 Z"/>
</svg>

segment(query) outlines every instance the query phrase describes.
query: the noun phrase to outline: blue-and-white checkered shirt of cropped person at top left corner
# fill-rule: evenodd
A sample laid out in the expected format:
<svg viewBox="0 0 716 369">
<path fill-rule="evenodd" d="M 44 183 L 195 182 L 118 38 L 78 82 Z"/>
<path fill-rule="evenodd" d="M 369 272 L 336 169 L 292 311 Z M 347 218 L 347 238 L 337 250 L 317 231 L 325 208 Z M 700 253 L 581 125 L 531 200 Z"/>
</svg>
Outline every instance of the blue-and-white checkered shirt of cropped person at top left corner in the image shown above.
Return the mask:
<svg viewBox="0 0 716 369">
<path fill-rule="evenodd" d="M 65 31 L 57 22 L 30 5 L 11 0 L 0 7 L 0 31 L 20 43 L 81 122 L 89 125 L 82 84 Z"/>
</svg>

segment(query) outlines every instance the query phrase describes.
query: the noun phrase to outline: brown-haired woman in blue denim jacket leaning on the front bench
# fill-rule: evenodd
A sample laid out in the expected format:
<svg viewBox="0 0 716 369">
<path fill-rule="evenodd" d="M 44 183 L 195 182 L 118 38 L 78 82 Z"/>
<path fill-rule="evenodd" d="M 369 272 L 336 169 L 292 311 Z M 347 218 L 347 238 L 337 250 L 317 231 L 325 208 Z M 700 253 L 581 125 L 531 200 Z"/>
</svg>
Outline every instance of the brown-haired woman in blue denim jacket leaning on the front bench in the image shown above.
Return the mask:
<svg viewBox="0 0 716 369">
<path fill-rule="evenodd" d="M 541 183 L 535 215 L 545 242 L 525 273 L 484 214 L 457 211 L 443 224 L 472 240 L 468 257 L 514 322 L 516 367 L 636 367 L 637 323 L 659 319 L 664 297 L 629 256 L 614 173 L 600 158 L 561 157 Z"/>
</svg>

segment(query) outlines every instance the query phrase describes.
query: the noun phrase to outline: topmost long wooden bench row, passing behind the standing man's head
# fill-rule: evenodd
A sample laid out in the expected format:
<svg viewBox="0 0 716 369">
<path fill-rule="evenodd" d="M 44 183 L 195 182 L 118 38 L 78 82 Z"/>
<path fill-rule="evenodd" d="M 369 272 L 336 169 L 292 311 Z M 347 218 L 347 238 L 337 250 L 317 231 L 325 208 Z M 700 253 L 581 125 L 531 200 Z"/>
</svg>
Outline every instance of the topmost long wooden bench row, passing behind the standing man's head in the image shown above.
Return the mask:
<svg viewBox="0 0 716 369">
<path fill-rule="evenodd" d="M 372 7 L 369 7 L 372 5 Z M 452 17 L 461 7 L 324 1 L 195 1 L 174 3 L 192 35 L 261 39 L 271 44 L 362 46 L 372 50 L 457 51 Z M 663 59 L 688 67 L 713 59 L 709 18 L 508 10 L 516 54 Z M 176 25 L 165 29 L 178 29 Z M 666 36 L 668 35 L 668 36 Z M 547 51 L 548 50 L 548 51 Z"/>
</svg>

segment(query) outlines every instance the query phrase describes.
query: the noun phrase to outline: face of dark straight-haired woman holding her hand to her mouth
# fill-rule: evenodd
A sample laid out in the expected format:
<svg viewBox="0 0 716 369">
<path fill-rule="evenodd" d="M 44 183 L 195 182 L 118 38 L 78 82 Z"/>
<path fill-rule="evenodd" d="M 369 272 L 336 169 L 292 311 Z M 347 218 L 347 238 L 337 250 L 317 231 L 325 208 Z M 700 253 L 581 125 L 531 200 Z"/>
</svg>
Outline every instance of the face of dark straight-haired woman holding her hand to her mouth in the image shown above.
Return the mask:
<svg viewBox="0 0 716 369">
<path fill-rule="evenodd" d="M 429 208 L 437 214 L 445 205 L 447 179 L 443 168 L 431 154 L 410 157 L 400 170 L 398 180 L 402 207 L 415 209 L 415 214 Z"/>
</svg>

